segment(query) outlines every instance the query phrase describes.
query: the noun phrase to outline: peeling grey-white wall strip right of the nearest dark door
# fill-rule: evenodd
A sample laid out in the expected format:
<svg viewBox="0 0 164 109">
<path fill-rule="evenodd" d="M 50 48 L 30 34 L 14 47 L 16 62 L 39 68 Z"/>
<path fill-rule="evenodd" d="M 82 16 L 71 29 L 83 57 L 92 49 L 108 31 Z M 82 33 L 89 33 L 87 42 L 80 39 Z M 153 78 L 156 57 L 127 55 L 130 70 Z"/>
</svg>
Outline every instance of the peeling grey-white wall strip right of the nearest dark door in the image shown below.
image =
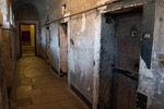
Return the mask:
<svg viewBox="0 0 164 109">
<path fill-rule="evenodd" d="M 148 109 L 163 109 L 164 102 L 164 69 L 160 68 L 159 58 L 164 55 L 163 48 L 163 0 L 155 2 L 155 23 L 153 35 L 153 53 L 151 69 L 148 69 L 141 58 L 139 90 L 148 95 Z"/>
</svg>

